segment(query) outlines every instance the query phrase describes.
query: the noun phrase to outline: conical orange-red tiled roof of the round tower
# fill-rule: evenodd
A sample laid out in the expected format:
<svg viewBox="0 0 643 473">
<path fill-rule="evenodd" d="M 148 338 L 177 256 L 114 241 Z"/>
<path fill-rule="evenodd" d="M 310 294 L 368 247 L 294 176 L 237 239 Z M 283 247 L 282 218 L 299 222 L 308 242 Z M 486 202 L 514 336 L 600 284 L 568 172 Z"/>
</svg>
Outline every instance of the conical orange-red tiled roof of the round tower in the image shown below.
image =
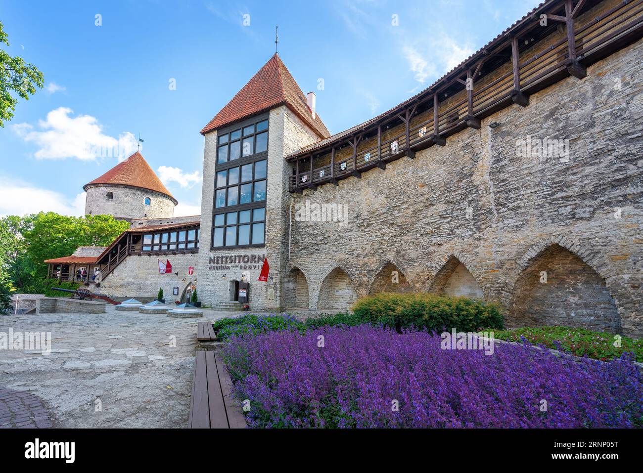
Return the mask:
<svg viewBox="0 0 643 473">
<path fill-rule="evenodd" d="M 118 165 L 111 168 L 102 176 L 96 177 L 91 183 L 85 184 L 83 190 L 87 190 L 96 184 L 120 184 L 122 186 L 153 190 L 154 192 L 159 192 L 170 197 L 175 205 L 179 203 L 174 199 L 174 195 L 161 183 L 161 179 L 158 178 L 158 175 L 154 173 L 150 165 L 145 161 L 143 155 L 138 151 L 122 163 L 118 163 Z"/>
</svg>

